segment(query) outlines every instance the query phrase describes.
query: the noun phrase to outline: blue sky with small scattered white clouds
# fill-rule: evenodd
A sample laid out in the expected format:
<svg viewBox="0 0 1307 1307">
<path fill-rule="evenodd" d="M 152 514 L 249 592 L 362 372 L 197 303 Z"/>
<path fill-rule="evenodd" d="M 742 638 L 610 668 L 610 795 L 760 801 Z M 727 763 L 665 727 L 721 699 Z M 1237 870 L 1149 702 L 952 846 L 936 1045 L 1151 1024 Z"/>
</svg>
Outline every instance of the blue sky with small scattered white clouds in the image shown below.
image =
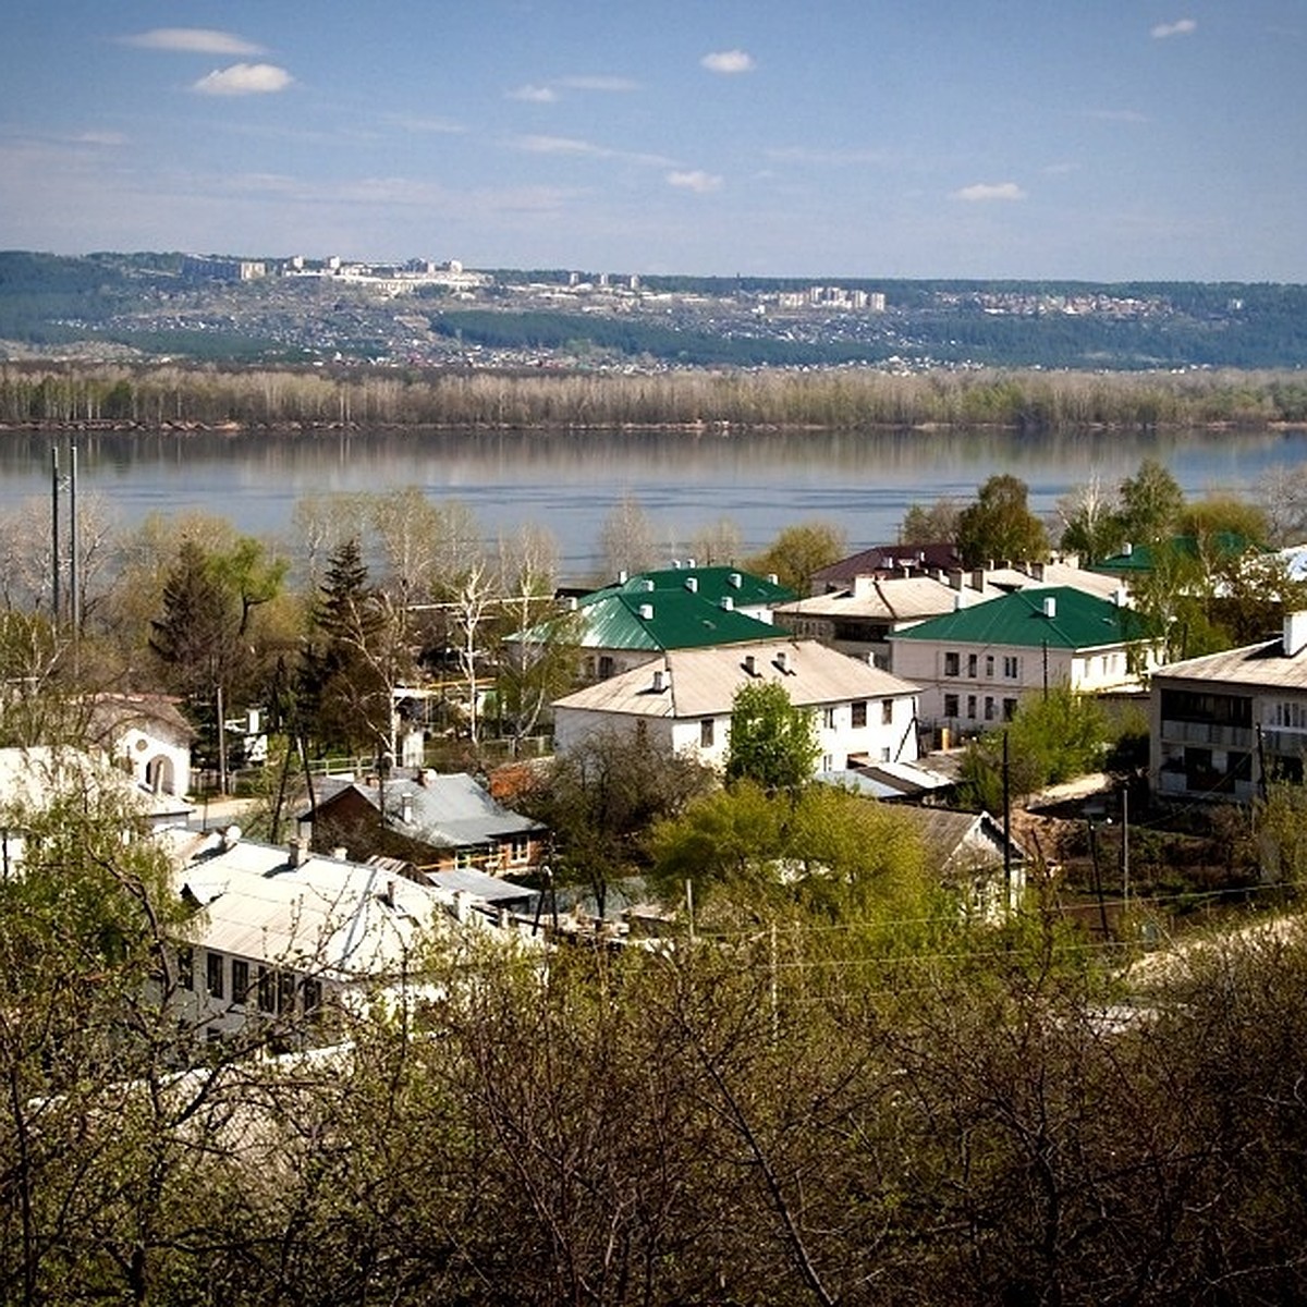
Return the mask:
<svg viewBox="0 0 1307 1307">
<path fill-rule="evenodd" d="M 1307 281 L 1307 0 L 8 0 L 0 247 Z"/>
</svg>

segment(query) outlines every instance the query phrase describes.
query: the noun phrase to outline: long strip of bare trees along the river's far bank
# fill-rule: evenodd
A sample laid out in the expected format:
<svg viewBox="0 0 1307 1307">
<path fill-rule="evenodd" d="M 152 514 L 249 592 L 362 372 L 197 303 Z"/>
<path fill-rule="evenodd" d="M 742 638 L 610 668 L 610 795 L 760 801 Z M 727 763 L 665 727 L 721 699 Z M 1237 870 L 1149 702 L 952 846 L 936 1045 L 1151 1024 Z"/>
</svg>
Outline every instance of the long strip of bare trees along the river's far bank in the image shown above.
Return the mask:
<svg viewBox="0 0 1307 1307">
<path fill-rule="evenodd" d="M 0 366 L 3 423 L 1151 429 L 1307 421 L 1290 372 L 870 370 L 646 375 Z"/>
</svg>

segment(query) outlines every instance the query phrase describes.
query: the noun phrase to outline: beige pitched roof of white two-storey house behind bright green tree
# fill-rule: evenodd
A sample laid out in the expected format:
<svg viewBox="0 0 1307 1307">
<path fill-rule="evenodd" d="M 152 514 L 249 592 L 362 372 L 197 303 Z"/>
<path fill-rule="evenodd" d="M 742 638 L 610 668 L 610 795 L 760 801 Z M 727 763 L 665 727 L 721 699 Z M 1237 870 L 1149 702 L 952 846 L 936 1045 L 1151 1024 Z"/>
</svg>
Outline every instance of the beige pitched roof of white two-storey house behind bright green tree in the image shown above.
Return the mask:
<svg viewBox="0 0 1307 1307">
<path fill-rule="evenodd" d="M 752 659 L 752 670 L 749 660 Z M 657 673 L 657 674 L 655 674 Z M 770 640 L 728 648 L 678 650 L 555 701 L 555 708 L 651 718 L 704 718 L 731 712 L 736 690 L 779 681 L 796 707 L 916 694 L 916 686 L 816 640 Z"/>
</svg>

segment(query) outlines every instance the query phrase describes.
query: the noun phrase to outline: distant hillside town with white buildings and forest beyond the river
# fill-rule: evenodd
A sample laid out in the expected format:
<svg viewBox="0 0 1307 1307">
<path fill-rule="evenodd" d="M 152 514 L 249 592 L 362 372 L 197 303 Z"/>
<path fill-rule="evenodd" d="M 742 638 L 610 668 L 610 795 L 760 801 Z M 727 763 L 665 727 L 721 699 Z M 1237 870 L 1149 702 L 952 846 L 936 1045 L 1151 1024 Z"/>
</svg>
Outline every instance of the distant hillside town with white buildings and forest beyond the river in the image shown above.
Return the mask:
<svg viewBox="0 0 1307 1307">
<path fill-rule="evenodd" d="M 464 369 L 1297 369 L 1307 288 L 0 254 L 0 358 Z"/>
</svg>

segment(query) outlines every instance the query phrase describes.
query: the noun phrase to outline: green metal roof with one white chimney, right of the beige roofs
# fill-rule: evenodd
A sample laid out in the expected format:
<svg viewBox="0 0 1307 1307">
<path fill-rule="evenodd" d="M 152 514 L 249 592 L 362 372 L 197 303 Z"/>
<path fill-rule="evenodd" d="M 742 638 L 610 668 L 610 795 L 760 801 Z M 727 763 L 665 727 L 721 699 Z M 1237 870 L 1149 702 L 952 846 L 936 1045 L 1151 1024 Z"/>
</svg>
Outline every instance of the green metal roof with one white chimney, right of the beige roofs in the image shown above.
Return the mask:
<svg viewBox="0 0 1307 1307">
<path fill-rule="evenodd" d="M 1046 616 L 1051 601 L 1053 614 Z M 1019 589 L 898 631 L 891 639 L 945 640 L 951 644 L 1010 644 L 1029 648 L 1098 648 L 1154 637 L 1132 608 L 1108 603 L 1070 586 Z"/>
</svg>

